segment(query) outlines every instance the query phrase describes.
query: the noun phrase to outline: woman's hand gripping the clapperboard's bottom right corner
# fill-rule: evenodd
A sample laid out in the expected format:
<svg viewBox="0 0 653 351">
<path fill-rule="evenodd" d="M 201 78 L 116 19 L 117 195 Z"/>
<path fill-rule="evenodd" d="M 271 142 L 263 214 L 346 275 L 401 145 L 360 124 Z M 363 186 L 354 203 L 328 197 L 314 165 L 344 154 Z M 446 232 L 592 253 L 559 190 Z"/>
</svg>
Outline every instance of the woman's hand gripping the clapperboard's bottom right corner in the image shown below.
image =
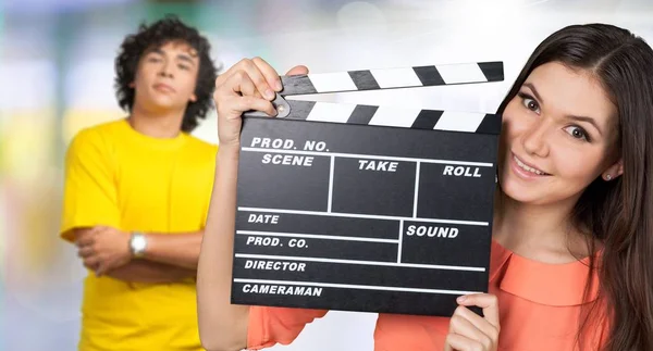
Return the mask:
<svg viewBox="0 0 653 351">
<path fill-rule="evenodd" d="M 490 293 L 473 293 L 458 298 L 459 306 L 449 322 L 445 351 L 496 351 L 498 346 L 498 301 Z M 484 317 L 466 306 L 483 309 Z"/>
</svg>

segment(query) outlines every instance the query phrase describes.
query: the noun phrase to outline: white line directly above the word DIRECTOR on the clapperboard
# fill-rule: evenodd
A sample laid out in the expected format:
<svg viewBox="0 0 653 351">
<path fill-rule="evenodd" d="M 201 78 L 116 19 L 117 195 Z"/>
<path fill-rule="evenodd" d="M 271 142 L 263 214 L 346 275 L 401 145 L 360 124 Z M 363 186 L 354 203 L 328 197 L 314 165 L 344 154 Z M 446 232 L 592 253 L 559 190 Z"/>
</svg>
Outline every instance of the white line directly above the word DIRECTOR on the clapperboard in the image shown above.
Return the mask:
<svg viewBox="0 0 653 351">
<path fill-rule="evenodd" d="M 420 263 L 397 263 L 397 262 L 383 262 L 383 261 L 320 259 L 320 258 L 285 256 L 285 255 L 273 255 L 273 254 L 251 254 L 251 253 L 236 253 L 235 256 L 237 259 L 287 260 L 287 261 L 379 265 L 379 266 L 443 269 L 443 271 L 485 272 L 484 267 L 470 267 L 470 266 L 456 266 L 456 265 L 442 265 L 442 264 L 420 264 Z"/>
</svg>

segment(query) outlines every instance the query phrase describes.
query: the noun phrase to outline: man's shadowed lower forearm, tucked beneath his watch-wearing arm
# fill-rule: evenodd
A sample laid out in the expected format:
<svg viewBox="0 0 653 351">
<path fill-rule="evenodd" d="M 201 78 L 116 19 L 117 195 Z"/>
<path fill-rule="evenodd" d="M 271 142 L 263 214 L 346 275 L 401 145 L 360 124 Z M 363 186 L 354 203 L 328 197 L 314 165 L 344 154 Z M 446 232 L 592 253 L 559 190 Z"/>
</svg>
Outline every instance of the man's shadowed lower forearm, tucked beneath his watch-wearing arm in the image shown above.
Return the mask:
<svg viewBox="0 0 653 351">
<path fill-rule="evenodd" d="M 107 276 L 131 283 L 175 283 L 195 275 L 194 269 L 145 260 L 132 260 L 107 273 Z"/>
</svg>

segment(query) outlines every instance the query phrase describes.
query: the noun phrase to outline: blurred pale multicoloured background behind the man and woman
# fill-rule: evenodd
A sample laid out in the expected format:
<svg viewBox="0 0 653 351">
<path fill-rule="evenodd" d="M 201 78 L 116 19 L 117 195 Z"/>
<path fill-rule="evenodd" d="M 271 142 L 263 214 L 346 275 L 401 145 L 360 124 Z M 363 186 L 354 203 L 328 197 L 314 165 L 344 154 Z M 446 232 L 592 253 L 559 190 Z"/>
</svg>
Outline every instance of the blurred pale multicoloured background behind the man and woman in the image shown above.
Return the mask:
<svg viewBox="0 0 653 351">
<path fill-rule="evenodd" d="M 0 350 L 75 350 L 85 271 L 58 237 L 62 160 L 83 127 L 124 116 L 113 59 L 141 22 L 175 13 L 227 68 L 283 73 L 500 60 L 506 82 L 310 99 L 494 112 L 540 40 L 571 23 L 653 43 L 651 0 L 0 0 Z M 301 98 L 301 97 L 300 97 Z M 195 134 L 217 142 L 214 111 Z M 372 350 L 375 315 L 330 313 L 278 350 Z"/>
</svg>

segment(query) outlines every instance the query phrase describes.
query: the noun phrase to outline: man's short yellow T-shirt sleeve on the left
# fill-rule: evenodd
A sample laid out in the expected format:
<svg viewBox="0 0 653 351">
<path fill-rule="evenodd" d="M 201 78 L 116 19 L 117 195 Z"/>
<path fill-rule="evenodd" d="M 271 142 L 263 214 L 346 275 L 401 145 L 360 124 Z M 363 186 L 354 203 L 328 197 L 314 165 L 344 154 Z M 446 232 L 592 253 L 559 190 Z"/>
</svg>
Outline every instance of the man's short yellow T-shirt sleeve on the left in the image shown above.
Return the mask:
<svg viewBox="0 0 653 351">
<path fill-rule="evenodd" d="M 73 241 L 72 229 L 106 225 L 120 228 L 115 162 L 96 129 L 73 138 L 65 155 L 61 236 Z"/>
</svg>

